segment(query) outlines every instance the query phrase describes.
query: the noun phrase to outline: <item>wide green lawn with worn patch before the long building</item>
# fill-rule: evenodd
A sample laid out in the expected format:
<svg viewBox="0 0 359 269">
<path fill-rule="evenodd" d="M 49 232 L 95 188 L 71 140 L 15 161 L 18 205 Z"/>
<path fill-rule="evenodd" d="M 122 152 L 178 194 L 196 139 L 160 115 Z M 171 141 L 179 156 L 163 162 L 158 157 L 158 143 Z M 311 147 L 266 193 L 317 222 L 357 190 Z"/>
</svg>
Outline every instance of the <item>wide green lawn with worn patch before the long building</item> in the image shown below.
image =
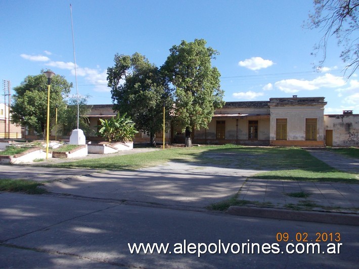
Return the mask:
<svg viewBox="0 0 359 269">
<path fill-rule="evenodd" d="M 168 161 L 237 169 L 271 170 L 253 177 L 270 180 L 359 183 L 359 175 L 338 171 L 300 148 L 243 147 L 235 145 L 170 148 L 146 153 L 83 159 L 53 167 L 138 169 Z"/>
</svg>

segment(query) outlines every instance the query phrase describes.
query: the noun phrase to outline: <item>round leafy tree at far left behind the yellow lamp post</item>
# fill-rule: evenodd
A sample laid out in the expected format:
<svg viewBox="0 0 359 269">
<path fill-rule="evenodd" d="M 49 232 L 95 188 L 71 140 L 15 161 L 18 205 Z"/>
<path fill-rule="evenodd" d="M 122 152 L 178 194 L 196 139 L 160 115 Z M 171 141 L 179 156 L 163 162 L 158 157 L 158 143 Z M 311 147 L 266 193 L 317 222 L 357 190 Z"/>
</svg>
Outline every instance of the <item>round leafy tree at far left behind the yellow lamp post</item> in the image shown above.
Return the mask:
<svg viewBox="0 0 359 269">
<path fill-rule="evenodd" d="M 43 74 L 27 76 L 19 86 L 14 87 L 15 95 L 11 106 L 12 122 L 33 128 L 44 136 L 48 109 L 48 78 Z M 55 122 L 56 107 L 58 113 L 66 110 L 64 98 L 68 96 L 72 83 L 65 77 L 55 75 L 50 87 L 50 122 Z"/>
</svg>

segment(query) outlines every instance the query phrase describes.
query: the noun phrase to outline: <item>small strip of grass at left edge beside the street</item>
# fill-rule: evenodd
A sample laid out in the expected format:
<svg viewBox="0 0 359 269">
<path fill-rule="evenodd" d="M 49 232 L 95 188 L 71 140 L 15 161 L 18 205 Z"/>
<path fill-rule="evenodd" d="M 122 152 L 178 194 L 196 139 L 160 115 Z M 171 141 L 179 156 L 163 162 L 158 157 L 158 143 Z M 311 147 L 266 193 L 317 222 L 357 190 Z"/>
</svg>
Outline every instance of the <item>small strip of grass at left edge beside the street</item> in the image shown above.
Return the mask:
<svg viewBox="0 0 359 269">
<path fill-rule="evenodd" d="M 42 185 L 42 183 L 36 181 L 0 179 L 0 191 L 6 192 L 23 192 L 27 194 L 47 193 L 46 190 L 38 188 Z"/>
</svg>

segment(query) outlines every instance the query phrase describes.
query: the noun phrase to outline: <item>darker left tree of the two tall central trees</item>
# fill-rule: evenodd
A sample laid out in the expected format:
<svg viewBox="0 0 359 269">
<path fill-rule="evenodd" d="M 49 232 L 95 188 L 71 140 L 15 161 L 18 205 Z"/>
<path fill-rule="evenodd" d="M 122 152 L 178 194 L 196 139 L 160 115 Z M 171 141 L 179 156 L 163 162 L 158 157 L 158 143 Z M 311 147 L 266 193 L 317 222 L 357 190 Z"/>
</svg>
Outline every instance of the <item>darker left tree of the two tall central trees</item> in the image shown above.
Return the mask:
<svg viewBox="0 0 359 269">
<path fill-rule="evenodd" d="M 115 65 L 107 69 L 113 109 L 127 113 L 138 128 L 150 136 L 151 145 L 156 146 L 155 133 L 163 130 L 163 106 L 165 129 L 169 128 L 170 88 L 156 65 L 139 53 L 116 54 L 114 62 Z"/>
</svg>

